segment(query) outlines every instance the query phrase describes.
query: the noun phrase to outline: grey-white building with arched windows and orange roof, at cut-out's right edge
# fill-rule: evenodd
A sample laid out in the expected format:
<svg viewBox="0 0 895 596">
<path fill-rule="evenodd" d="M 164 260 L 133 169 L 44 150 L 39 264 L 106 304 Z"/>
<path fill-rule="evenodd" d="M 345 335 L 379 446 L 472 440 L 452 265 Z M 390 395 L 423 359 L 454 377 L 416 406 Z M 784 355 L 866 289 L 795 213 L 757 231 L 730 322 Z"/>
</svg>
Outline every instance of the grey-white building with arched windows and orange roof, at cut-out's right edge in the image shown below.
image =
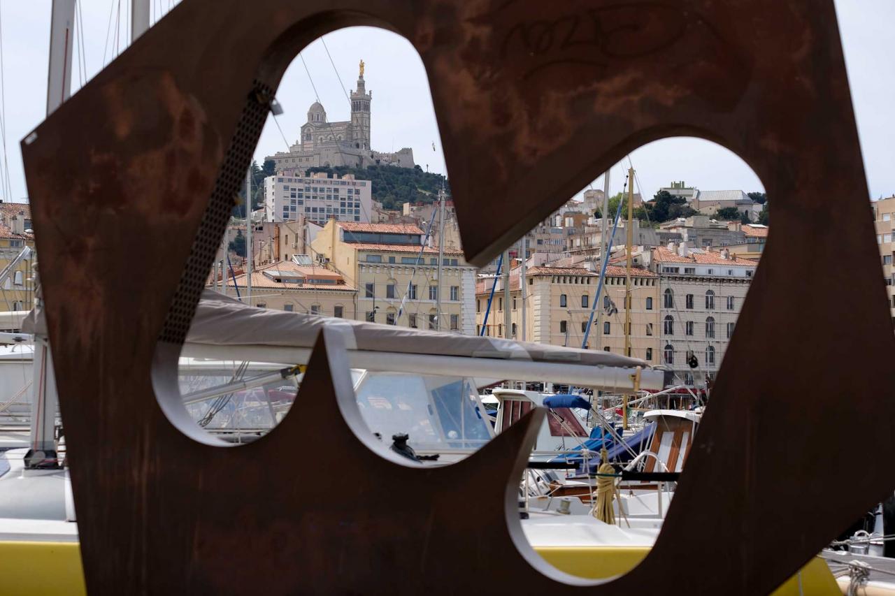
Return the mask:
<svg viewBox="0 0 895 596">
<path fill-rule="evenodd" d="M 675 382 L 703 387 L 727 352 L 757 262 L 727 250 L 669 245 L 652 251 L 660 277 L 661 359 Z"/>
</svg>

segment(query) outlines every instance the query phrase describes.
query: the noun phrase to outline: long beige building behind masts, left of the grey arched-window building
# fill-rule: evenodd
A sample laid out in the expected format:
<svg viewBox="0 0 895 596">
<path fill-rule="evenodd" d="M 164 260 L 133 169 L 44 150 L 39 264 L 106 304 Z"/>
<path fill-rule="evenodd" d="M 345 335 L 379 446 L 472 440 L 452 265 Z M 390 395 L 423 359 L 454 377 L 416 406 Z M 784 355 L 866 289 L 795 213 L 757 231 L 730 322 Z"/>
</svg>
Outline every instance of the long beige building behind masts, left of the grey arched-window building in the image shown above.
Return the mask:
<svg viewBox="0 0 895 596">
<path fill-rule="evenodd" d="M 520 269 L 510 277 L 510 304 L 504 304 L 503 279 L 491 301 L 487 325 L 485 313 L 493 278 L 483 278 L 476 290 L 476 329 L 486 336 L 504 336 L 504 308 L 510 309 L 510 336 L 522 339 Z M 525 274 L 527 341 L 581 347 L 584 331 L 597 294 L 598 273 L 579 267 L 533 267 Z M 625 268 L 609 265 L 603 300 L 597 305 L 587 347 L 612 353 L 625 352 Z M 632 269 L 631 354 L 647 362 L 659 362 L 659 277 L 645 268 Z M 599 319 L 598 319 L 599 317 Z M 599 322 L 598 322 L 599 321 Z"/>
</svg>

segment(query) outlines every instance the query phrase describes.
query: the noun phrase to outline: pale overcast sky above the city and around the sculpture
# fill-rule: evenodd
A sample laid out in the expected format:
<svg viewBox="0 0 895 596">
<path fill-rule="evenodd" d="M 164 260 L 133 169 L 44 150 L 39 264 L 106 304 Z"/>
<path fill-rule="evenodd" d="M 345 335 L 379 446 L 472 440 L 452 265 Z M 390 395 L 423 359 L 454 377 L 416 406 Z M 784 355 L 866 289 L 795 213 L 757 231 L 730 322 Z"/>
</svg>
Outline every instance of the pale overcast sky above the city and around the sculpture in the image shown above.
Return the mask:
<svg viewBox="0 0 895 596">
<path fill-rule="evenodd" d="M 173 0 L 150 1 L 153 20 L 171 4 L 176 4 Z M 27 196 L 19 141 L 43 119 L 46 110 L 50 4 L 51 0 L 0 0 L 5 149 L 14 200 Z M 86 32 L 82 37 L 84 52 L 81 55 L 76 50 L 74 57 L 83 65 L 72 68 L 72 90 L 80 88 L 83 81 L 102 68 L 104 55 L 107 64 L 115 55 L 116 46 L 124 49 L 128 4 L 129 0 L 83 0 L 81 3 L 81 20 Z M 120 14 L 117 13 L 119 5 Z M 836 6 L 870 195 L 874 199 L 891 196 L 895 194 L 895 66 L 891 59 L 895 0 L 839 0 Z M 120 23 L 117 44 L 116 20 Z M 320 40 L 305 48 L 302 55 L 328 119 L 348 119 L 348 100 L 338 77 L 345 90 L 354 89 L 357 65 L 362 58 L 366 64 L 367 89 L 373 93 L 373 149 L 411 147 L 418 164 L 443 173 L 444 159 L 429 85 L 413 47 L 395 34 L 368 28 L 335 31 L 324 40 L 335 69 Z M 76 41 L 80 46 L 80 30 Z M 85 67 L 86 72 L 82 72 Z M 278 117 L 279 124 L 286 140 L 293 143 L 298 138 L 299 127 L 306 121 L 308 107 L 316 99 L 301 60 L 296 59 L 286 72 L 277 98 L 286 110 Z M 259 161 L 265 155 L 286 149 L 286 142 L 271 118 L 268 117 L 256 152 Z M 78 140 L 72 139 L 72 142 Z M 648 197 L 671 180 L 684 180 L 703 190 L 762 190 L 761 183 L 742 160 L 705 140 L 661 140 L 637 149 L 631 158 L 643 185 L 642 191 Z M 624 178 L 622 171 L 626 166 L 625 163 L 613 169 L 613 192 L 620 190 L 617 187 Z M 594 184 L 602 188 L 601 181 Z"/>
</svg>

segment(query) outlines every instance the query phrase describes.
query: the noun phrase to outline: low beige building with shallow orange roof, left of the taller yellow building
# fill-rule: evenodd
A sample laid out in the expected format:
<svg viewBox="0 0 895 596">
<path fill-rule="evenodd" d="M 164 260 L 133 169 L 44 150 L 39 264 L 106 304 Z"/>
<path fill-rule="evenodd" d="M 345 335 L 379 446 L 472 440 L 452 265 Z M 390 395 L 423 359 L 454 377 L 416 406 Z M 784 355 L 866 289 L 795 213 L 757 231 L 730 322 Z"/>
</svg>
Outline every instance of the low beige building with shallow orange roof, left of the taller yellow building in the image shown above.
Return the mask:
<svg viewBox="0 0 895 596">
<path fill-rule="evenodd" d="M 227 279 L 226 286 L 219 291 L 236 298 L 237 288 L 238 296 L 249 302 L 244 273 Z M 328 268 L 283 261 L 252 271 L 251 305 L 277 311 L 356 319 L 357 289 Z"/>
</svg>

